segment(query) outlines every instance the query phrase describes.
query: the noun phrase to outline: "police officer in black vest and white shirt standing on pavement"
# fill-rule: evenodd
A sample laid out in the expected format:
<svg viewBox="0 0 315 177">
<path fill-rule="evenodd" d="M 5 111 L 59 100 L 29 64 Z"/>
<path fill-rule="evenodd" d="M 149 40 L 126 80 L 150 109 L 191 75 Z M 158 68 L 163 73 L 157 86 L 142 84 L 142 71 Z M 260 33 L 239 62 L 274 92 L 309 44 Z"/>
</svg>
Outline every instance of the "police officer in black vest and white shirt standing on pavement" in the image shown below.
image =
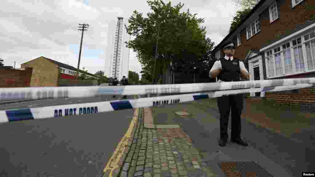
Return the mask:
<svg viewBox="0 0 315 177">
<path fill-rule="evenodd" d="M 229 41 L 223 45 L 225 57 L 215 61 L 209 77 L 218 78 L 218 82 L 237 82 L 240 77 L 249 79 L 249 72 L 244 66 L 244 63 L 236 58 L 233 58 L 235 53 L 234 44 Z M 248 144 L 241 139 L 241 113 L 243 110 L 243 95 L 226 95 L 217 98 L 218 108 L 220 112 L 220 140 L 219 146 L 225 146 L 228 134 L 228 120 L 231 110 L 231 141 L 241 146 Z"/>
</svg>

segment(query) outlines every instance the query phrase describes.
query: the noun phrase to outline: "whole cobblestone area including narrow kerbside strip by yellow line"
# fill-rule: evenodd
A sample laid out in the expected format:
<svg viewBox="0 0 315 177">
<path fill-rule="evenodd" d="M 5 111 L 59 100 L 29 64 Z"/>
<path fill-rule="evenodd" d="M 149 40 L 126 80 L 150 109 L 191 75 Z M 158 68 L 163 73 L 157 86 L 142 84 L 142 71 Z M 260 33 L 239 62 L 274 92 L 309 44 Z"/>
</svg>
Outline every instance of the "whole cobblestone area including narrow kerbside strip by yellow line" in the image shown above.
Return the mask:
<svg viewBox="0 0 315 177">
<path fill-rule="evenodd" d="M 181 128 L 144 128 L 143 109 L 112 176 L 213 177 L 191 138 Z M 109 171 L 103 175 L 110 176 Z"/>
</svg>

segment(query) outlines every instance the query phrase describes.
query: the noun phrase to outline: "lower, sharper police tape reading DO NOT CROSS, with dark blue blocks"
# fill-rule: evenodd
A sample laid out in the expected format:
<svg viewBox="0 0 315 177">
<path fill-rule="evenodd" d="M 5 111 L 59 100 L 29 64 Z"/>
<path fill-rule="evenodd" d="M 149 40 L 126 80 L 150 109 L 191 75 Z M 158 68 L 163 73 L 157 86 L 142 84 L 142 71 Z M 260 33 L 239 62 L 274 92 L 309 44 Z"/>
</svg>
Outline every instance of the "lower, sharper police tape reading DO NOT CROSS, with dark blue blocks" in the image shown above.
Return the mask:
<svg viewBox="0 0 315 177">
<path fill-rule="evenodd" d="M 50 117 L 63 117 L 72 115 L 82 115 L 89 113 L 107 112 L 123 109 L 133 109 L 142 107 L 152 107 L 161 105 L 171 105 L 182 102 L 189 102 L 199 99 L 216 98 L 224 95 L 243 94 L 250 92 L 276 92 L 312 87 L 313 84 L 297 84 L 288 86 L 275 86 L 265 88 L 249 88 L 238 90 L 223 90 L 198 94 L 180 94 L 170 96 L 159 96 L 151 98 L 140 98 L 134 100 L 104 101 L 94 103 L 82 103 L 72 105 L 47 106 L 38 108 L 27 108 L 17 110 L 0 111 L 0 123 L 43 119 Z"/>
</svg>

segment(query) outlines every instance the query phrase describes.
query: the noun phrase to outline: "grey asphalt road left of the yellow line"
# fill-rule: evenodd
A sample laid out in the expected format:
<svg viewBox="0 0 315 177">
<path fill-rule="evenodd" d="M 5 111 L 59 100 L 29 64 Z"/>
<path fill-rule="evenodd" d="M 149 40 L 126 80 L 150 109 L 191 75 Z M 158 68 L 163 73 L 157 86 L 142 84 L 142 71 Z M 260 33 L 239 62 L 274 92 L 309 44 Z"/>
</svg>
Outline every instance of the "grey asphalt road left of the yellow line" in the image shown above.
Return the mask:
<svg viewBox="0 0 315 177">
<path fill-rule="evenodd" d="M 113 100 L 111 96 L 36 100 L 0 105 L 0 110 L 106 99 Z M 0 176 L 102 176 L 133 113 L 130 109 L 0 124 Z"/>
</svg>

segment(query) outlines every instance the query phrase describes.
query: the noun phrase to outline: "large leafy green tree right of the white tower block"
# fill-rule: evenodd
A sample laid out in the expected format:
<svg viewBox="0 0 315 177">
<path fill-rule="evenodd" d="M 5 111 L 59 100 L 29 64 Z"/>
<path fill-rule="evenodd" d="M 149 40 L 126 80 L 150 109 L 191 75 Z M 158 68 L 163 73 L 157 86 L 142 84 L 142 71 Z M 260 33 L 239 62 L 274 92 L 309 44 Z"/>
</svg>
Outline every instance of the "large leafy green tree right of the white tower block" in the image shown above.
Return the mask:
<svg viewBox="0 0 315 177">
<path fill-rule="evenodd" d="M 153 12 L 143 18 L 142 13 L 134 11 L 129 18 L 129 26 L 125 27 L 128 34 L 135 39 L 125 43 L 137 53 L 142 66 L 142 77 L 149 80 L 153 75 L 158 38 L 154 76 L 158 80 L 163 75 L 163 83 L 166 83 L 171 65 L 191 69 L 198 60 L 206 56 L 206 30 L 200 26 L 204 20 L 197 18 L 197 14 L 191 14 L 189 9 L 180 13 L 184 6 L 181 3 L 174 7 L 170 2 L 165 4 L 161 0 L 148 0 L 147 3 Z"/>
</svg>

